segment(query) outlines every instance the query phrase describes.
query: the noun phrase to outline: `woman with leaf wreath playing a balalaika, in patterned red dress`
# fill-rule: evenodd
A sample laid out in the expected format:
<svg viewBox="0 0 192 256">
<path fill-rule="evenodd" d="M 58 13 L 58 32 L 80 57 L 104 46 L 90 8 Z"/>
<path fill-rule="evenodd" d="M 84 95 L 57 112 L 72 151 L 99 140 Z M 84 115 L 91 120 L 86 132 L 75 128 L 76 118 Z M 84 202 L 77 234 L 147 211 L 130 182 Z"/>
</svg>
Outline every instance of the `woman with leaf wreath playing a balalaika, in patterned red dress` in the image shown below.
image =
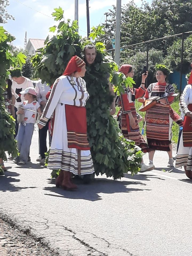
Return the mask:
<svg viewBox="0 0 192 256">
<path fill-rule="evenodd" d="M 155 106 L 146 111 L 146 135 L 150 148 L 149 160 L 153 164 L 155 150 L 167 151 L 169 155 L 168 166 L 173 166 L 172 145 L 171 145 L 171 126 L 173 121 L 178 125 L 182 125 L 183 121 L 179 115 L 170 107 L 174 101 L 174 86 L 166 82 L 169 70 L 165 67 L 157 67 L 156 79 L 157 83 L 151 83 L 147 88 L 143 101 L 145 99 L 157 99 Z M 166 98 L 159 99 L 160 97 Z M 140 101 L 141 102 L 141 101 Z"/>
</svg>

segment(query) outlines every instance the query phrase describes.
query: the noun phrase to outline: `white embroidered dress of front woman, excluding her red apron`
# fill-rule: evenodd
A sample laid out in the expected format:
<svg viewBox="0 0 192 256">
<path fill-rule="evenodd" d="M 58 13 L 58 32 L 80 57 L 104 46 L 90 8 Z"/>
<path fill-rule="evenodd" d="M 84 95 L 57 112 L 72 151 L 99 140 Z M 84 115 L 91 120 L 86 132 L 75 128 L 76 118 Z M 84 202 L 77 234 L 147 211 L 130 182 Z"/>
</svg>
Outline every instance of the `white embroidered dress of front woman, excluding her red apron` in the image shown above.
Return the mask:
<svg viewBox="0 0 192 256">
<path fill-rule="evenodd" d="M 68 79 L 73 83 L 70 83 Z M 48 160 L 50 169 L 70 171 L 76 175 L 94 173 L 90 150 L 79 150 L 81 152 L 79 155 L 78 149 L 69 148 L 67 141 L 65 105 L 85 107 L 88 98 L 86 83 L 81 77 L 62 75 L 55 81 L 43 115 L 39 120 L 39 123 L 45 126 L 55 110 L 53 137 Z M 78 172 L 79 161 L 81 173 Z"/>
</svg>

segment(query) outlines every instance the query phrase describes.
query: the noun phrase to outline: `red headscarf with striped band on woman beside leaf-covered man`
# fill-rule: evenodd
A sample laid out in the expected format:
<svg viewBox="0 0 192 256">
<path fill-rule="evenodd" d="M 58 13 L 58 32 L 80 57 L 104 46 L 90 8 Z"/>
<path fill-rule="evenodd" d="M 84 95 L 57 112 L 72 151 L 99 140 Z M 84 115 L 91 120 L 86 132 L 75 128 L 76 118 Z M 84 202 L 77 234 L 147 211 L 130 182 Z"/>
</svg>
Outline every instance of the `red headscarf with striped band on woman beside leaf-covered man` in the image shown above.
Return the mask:
<svg viewBox="0 0 192 256">
<path fill-rule="evenodd" d="M 70 59 L 65 71 L 63 72 L 63 75 L 71 75 L 75 71 L 80 72 L 81 68 L 84 65 L 85 65 L 85 62 L 81 58 L 79 58 L 77 55 L 75 55 Z"/>
</svg>

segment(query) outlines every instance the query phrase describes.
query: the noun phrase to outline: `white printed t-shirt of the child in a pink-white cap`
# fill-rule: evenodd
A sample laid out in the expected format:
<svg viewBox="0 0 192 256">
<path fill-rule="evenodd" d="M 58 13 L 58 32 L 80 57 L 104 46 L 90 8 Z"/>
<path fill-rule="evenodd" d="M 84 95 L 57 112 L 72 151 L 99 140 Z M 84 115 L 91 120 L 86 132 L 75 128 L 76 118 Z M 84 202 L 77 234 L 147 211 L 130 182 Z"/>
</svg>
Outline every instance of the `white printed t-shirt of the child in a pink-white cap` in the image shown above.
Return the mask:
<svg viewBox="0 0 192 256">
<path fill-rule="evenodd" d="M 21 104 L 22 107 L 24 107 L 24 122 L 25 123 L 35 123 L 36 121 L 36 117 L 37 117 L 37 113 L 33 112 L 38 110 L 38 108 L 40 107 L 39 102 L 38 101 L 33 101 L 31 103 L 28 103 L 28 101 L 23 101 L 23 103 Z M 31 109 L 33 111 L 30 110 L 26 110 L 26 109 Z"/>
</svg>

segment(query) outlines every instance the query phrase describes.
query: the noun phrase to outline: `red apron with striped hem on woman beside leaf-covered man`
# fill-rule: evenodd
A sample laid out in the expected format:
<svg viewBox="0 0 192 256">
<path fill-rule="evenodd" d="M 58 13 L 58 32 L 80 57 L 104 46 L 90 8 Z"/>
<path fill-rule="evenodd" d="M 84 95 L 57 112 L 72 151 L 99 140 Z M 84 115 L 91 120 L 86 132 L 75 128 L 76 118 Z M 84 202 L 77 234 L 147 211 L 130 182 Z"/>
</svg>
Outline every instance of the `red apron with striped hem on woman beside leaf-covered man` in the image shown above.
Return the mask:
<svg viewBox="0 0 192 256">
<path fill-rule="evenodd" d="M 86 108 L 65 105 L 68 147 L 90 150 L 87 138 Z"/>
</svg>

